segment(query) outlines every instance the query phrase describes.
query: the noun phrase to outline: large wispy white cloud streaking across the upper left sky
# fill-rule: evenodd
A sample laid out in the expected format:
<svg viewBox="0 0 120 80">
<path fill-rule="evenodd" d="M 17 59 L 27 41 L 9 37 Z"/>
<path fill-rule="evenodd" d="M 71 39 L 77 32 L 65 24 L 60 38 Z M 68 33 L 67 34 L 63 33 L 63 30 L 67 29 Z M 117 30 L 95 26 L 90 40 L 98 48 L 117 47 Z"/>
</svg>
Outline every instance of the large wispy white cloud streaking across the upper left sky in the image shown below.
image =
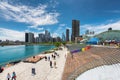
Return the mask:
<svg viewBox="0 0 120 80">
<path fill-rule="evenodd" d="M 12 5 L 8 2 L 0 2 L 0 14 L 6 20 L 15 22 L 23 22 L 37 28 L 41 25 L 52 25 L 58 23 L 57 17 L 59 13 L 48 12 L 47 5 L 39 5 L 37 7 L 25 5 Z"/>
</svg>

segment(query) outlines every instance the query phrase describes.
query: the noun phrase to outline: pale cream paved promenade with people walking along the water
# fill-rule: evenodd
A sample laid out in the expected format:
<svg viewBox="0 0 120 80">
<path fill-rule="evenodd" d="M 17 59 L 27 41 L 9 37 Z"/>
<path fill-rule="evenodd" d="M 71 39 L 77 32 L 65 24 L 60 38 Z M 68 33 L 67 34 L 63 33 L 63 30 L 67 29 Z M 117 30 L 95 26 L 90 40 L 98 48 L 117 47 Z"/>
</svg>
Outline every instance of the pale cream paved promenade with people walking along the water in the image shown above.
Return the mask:
<svg viewBox="0 0 120 80">
<path fill-rule="evenodd" d="M 63 48 L 63 50 L 56 51 L 60 57 L 56 56 L 56 59 L 52 59 L 52 62 L 56 61 L 57 68 L 50 68 L 50 62 L 45 61 L 45 59 L 40 60 L 37 63 L 24 63 L 20 62 L 14 66 L 6 68 L 3 73 L 0 73 L 0 80 L 7 80 L 7 73 L 12 75 L 12 72 L 15 71 L 17 78 L 16 80 L 61 80 L 62 73 L 65 66 L 65 54 L 67 53 L 67 49 Z M 50 54 L 40 54 L 51 56 Z M 35 68 L 36 75 L 32 75 L 31 69 Z"/>
</svg>

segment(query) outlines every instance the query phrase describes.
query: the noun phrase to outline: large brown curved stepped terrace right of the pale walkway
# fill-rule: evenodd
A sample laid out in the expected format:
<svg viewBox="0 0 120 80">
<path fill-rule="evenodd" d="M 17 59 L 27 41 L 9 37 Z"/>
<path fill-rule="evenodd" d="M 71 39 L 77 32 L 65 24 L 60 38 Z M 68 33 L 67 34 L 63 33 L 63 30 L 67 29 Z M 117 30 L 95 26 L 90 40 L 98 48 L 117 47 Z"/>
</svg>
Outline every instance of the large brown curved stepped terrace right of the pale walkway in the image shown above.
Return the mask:
<svg viewBox="0 0 120 80">
<path fill-rule="evenodd" d="M 91 47 L 91 49 L 68 53 L 62 80 L 74 80 L 83 72 L 102 65 L 120 63 L 120 49 L 109 47 Z"/>
</svg>

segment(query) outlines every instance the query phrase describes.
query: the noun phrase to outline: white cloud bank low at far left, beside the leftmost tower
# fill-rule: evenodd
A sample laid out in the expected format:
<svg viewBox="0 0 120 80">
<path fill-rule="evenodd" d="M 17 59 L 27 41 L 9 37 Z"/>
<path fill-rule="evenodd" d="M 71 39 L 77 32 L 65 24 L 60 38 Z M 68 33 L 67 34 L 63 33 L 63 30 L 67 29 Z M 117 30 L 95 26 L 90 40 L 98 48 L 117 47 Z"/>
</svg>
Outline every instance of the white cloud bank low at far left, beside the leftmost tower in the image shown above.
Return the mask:
<svg viewBox="0 0 120 80">
<path fill-rule="evenodd" d="M 14 40 L 24 41 L 25 33 L 16 30 L 0 28 L 0 40 L 6 40 L 6 39 L 13 41 Z"/>
</svg>

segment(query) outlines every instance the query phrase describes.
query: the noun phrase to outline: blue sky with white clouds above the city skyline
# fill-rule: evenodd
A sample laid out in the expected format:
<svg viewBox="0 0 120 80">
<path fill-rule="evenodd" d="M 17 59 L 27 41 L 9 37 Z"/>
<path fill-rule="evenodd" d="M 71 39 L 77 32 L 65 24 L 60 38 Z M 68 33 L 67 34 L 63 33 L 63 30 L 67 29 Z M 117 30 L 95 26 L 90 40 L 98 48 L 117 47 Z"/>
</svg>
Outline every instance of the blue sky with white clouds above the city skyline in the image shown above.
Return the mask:
<svg viewBox="0 0 120 80">
<path fill-rule="evenodd" d="M 73 19 L 80 21 L 80 35 L 120 30 L 120 0 L 0 0 L 0 40 L 24 41 L 25 32 L 45 30 L 61 37 L 70 29 L 71 35 Z"/>
</svg>

